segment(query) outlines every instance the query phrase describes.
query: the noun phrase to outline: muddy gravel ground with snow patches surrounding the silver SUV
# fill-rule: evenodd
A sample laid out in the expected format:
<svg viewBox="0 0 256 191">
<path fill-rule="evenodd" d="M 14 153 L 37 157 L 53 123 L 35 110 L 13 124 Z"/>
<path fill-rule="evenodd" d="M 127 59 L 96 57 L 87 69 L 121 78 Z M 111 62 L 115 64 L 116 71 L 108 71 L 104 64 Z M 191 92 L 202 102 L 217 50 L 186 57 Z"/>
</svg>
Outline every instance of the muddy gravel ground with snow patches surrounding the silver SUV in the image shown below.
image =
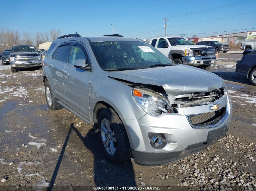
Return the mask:
<svg viewBox="0 0 256 191">
<path fill-rule="evenodd" d="M 234 73 L 241 53 L 218 57 L 211 72 L 224 79 L 233 105 L 227 136 L 200 153 L 154 167 L 132 159 L 109 163 L 90 125 L 66 109 L 48 109 L 42 70 L 12 73 L 0 63 L 0 189 L 255 190 L 256 87 Z"/>
</svg>

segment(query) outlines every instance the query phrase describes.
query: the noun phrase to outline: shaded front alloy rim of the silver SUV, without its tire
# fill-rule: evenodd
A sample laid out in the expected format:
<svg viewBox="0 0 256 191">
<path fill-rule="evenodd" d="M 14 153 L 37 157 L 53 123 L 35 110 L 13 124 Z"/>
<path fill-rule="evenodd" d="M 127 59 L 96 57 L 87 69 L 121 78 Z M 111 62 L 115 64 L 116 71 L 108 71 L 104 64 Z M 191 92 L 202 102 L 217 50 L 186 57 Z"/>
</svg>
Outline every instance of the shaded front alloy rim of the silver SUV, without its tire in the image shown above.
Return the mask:
<svg viewBox="0 0 256 191">
<path fill-rule="evenodd" d="M 115 154 L 116 150 L 116 141 L 115 133 L 111 127 L 111 123 L 108 119 L 102 119 L 101 121 L 101 138 L 105 149 L 108 154 Z"/>
</svg>

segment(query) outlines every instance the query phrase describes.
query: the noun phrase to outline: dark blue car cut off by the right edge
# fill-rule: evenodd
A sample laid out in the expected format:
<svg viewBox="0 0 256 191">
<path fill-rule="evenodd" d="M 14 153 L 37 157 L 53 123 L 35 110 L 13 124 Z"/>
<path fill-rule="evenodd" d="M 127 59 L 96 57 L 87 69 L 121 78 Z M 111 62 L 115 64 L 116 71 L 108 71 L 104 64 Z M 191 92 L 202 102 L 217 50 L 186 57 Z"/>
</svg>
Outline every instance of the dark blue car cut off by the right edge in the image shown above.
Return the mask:
<svg viewBox="0 0 256 191">
<path fill-rule="evenodd" d="M 256 50 L 244 54 L 236 65 L 235 73 L 249 78 L 251 83 L 256 85 Z"/>
</svg>

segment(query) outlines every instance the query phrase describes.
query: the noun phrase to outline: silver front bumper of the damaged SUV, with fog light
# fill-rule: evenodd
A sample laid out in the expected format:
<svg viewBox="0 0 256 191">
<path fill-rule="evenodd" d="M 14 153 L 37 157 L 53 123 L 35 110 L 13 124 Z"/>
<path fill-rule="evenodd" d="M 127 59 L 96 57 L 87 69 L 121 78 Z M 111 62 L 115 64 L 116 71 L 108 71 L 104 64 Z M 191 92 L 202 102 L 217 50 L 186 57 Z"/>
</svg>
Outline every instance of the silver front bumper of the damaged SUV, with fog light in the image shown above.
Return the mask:
<svg viewBox="0 0 256 191">
<path fill-rule="evenodd" d="M 216 143 L 226 135 L 231 121 L 232 108 L 227 100 L 225 97 L 216 103 L 219 106 L 219 110 L 216 111 L 209 112 L 209 107 L 213 107 L 213 104 L 208 104 L 181 107 L 178 113 L 162 113 L 159 116 L 146 114 L 139 120 L 122 119 L 135 163 L 145 166 L 166 164 Z M 203 114 L 198 114 L 199 110 Z M 208 111 L 204 113 L 206 110 Z M 212 118 L 212 112 L 221 114 Z M 195 117 L 189 119 L 190 116 Z"/>
</svg>

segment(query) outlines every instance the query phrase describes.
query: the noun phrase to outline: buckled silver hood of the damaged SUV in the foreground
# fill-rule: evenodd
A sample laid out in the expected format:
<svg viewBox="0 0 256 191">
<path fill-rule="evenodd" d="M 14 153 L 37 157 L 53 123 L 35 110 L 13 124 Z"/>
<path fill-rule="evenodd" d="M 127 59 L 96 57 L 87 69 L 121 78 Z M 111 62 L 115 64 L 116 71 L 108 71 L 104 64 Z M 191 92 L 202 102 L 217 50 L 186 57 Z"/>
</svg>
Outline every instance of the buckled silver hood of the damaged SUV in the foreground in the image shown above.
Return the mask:
<svg viewBox="0 0 256 191">
<path fill-rule="evenodd" d="M 108 76 L 136 84 L 162 86 L 165 92 L 171 96 L 208 92 L 224 87 L 224 81 L 219 76 L 186 65 L 108 72 Z"/>
</svg>

